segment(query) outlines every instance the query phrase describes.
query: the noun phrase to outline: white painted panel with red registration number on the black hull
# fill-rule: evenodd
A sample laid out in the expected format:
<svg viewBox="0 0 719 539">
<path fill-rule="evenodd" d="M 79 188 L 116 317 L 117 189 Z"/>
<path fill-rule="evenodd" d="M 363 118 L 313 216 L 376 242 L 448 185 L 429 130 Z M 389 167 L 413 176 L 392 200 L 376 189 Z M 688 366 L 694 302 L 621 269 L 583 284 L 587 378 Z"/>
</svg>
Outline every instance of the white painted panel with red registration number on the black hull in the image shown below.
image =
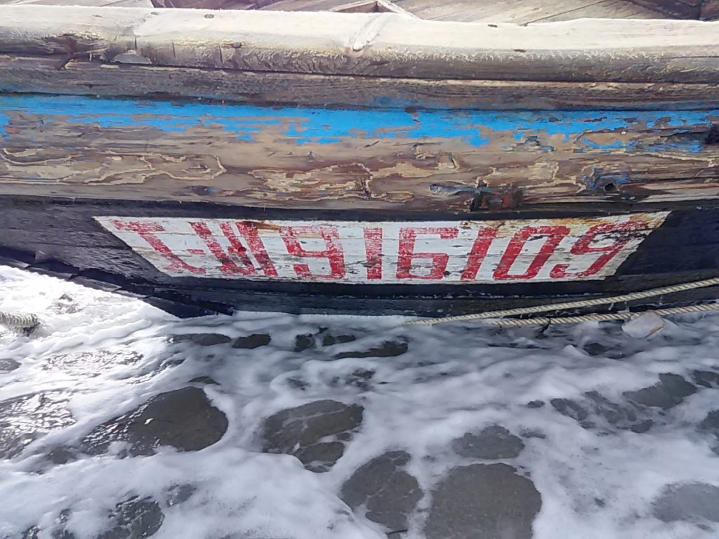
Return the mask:
<svg viewBox="0 0 719 539">
<path fill-rule="evenodd" d="M 667 215 L 508 221 L 96 220 L 158 270 L 177 277 L 466 285 L 603 279 Z"/>
</svg>

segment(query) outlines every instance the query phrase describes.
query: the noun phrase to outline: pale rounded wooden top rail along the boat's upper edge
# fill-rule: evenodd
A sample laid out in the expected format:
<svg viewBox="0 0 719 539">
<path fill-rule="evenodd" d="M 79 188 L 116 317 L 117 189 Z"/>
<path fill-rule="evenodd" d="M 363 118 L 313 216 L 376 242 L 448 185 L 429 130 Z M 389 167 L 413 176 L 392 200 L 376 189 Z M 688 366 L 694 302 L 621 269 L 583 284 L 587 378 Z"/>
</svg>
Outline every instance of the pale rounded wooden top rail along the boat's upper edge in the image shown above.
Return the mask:
<svg viewBox="0 0 719 539">
<path fill-rule="evenodd" d="M 719 82 L 719 25 L 431 22 L 398 14 L 0 6 L 0 52 L 408 78 Z"/>
</svg>

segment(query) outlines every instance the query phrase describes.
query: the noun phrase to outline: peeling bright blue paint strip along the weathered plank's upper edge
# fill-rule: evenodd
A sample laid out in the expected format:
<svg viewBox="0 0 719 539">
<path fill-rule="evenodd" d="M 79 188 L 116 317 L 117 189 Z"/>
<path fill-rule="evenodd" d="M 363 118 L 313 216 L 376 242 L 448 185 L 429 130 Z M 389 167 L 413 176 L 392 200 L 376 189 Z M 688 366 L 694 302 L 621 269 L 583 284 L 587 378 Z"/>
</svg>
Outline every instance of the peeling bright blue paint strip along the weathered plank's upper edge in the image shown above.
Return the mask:
<svg viewBox="0 0 719 539">
<path fill-rule="evenodd" d="M 493 132 L 510 132 L 518 142 L 539 135 L 569 140 L 587 130 L 620 132 L 641 125 L 649 128 L 708 126 L 719 111 L 453 111 L 406 109 L 348 110 L 293 107 L 261 107 L 244 104 L 176 103 L 79 96 L 0 96 L 0 135 L 8 137 L 9 113 L 34 114 L 42 121 L 53 116 L 65 121 L 93 124 L 102 129 L 154 128 L 181 133 L 190 127 L 223 129 L 240 141 L 252 142 L 258 133 L 280 126 L 296 144 L 336 144 L 346 138 L 402 137 L 417 142 L 461 139 L 475 147 L 489 144 Z M 608 144 L 582 141 L 591 149 L 633 149 L 633 142 L 617 139 Z M 672 149 L 698 152 L 700 143 L 679 144 Z"/>
</svg>

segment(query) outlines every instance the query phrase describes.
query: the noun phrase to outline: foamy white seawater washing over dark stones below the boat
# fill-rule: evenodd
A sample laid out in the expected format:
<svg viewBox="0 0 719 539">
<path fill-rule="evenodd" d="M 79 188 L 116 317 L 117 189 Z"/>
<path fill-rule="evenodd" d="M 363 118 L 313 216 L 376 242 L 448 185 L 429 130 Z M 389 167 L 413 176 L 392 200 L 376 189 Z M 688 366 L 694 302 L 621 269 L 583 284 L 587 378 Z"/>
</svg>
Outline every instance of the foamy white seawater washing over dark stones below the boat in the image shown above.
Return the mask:
<svg viewBox="0 0 719 539">
<path fill-rule="evenodd" d="M 719 536 L 719 422 L 710 415 L 719 409 L 719 315 L 674 318 L 637 339 L 595 323 L 539 332 L 267 313 L 180 321 L 2 267 L 0 287 L 0 310 L 43 323 L 32 337 L 0 334 L 0 451 L 14 447 L 0 460 L 0 537 L 139 537 L 107 535 L 118 504 L 137 497 L 161 511 L 157 539 L 470 538 L 451 526 L 462 515 L 442 517 L 439 499 L 462 512 L 472 492 L 453 494 L 446 478 L 473 464 L 507 464 L 521 488 L 533 484 L 536 539 Z M 201 333 L 228 342 L 178 337 Z M 269 343 L 229 344 L 257 334 Z M 93 454 L 78 445 L 183 387 L 200 388 L 226 416 L 216 443 L 138 456 L 119 442 Z M 19 404 L 3 408 L 10 400 Z M 327 471 L 262 451 L 268 417 L 321 400 L 363 409 Z M 510 433 L 516 451 L 460 447 L 489 425 Z M 71 456 L 52 457 L 59 448 Z M 388 451 L 411 456 L 403 470 L 418 485 L 402 530 L 370 519 L 369 503 L 343 501 L 352 474 Z"/>
</svg>

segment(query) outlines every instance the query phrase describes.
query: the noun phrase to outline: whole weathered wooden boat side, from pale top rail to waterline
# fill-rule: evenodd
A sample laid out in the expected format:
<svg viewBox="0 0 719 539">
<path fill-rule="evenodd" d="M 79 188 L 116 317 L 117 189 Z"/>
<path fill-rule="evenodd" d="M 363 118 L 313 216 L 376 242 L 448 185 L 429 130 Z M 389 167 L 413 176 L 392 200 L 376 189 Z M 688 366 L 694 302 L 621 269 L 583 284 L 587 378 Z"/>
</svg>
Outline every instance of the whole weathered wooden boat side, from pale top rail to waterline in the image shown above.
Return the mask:
<svg viewBox="0 0 719 539">
<path fill-rule="evenodd" d="M 4 262 L 181 315 L 719 275 L 716 23 L 32 10 L 0 8 Z"/>
</svg>

